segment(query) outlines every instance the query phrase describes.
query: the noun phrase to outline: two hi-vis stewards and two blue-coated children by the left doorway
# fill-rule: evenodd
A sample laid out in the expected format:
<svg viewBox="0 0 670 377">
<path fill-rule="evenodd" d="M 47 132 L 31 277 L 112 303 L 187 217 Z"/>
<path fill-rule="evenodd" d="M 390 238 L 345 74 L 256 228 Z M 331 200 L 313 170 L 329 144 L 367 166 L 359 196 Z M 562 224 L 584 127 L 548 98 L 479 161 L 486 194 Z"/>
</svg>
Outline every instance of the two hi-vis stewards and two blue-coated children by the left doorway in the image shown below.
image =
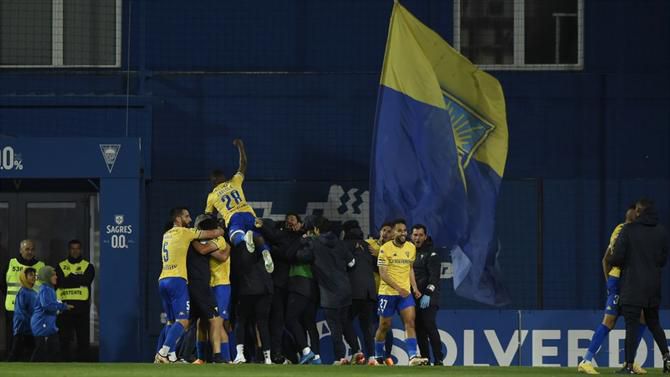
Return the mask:
<svg viewBox="0 0 670 377">
<path fill-rule="evenodd" d="M 21 241 L 5 271 L 8 361 L 88 361 L 90 290 L 95 268 L 79 240 L 55 268 L 35 257 L 35 242 Z M 77 347 L 72 349 L 72 339 Z"/>
</svg>

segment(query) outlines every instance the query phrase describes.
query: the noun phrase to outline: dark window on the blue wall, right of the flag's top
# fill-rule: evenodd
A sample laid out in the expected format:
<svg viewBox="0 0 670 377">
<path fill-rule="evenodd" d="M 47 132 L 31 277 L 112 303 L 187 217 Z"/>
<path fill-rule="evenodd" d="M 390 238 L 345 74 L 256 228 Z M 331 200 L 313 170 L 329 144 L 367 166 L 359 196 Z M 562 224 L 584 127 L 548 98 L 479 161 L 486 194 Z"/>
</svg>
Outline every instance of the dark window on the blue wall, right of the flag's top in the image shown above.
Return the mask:
<svg viewBox="0 0 670 377">
<path fill-rule="evenodd" d="M 583 0 L 454 0 L 454 45 L 485 69 L 582 69 Z"/>
</svg>

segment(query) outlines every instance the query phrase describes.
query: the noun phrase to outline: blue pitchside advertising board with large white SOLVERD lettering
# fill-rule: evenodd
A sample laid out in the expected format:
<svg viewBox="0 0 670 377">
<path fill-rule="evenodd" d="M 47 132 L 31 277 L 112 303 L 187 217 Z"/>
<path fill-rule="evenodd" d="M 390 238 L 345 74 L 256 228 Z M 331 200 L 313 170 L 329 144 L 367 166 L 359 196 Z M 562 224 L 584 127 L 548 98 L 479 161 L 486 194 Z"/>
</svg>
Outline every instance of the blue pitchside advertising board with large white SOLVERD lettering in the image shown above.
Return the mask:
<svg viewBox="0 0 670 377">
<path fill-rule="evenodd" d="M 440 310 L 437 324 L 445 365 L 576 367 L 602 317 L 602 311 L 591 310 Z M 661 324 L 669 323 L 670 311 L 661 311 Z M 317 328 L 323 361 L 332 362 L 330 331 L 321 315 Z M 397 364 L 406 365 L 402 328 L 396 316 L 393 357 Z M 670 337 L 670 331 L 665 334 Z M 595 356 L 594 365 L 621 366 L 624 339 L 622 317 Z M 662 367 L 661 353 L 649 331 L 644 334 L 635 360 L 644 367 Z"/>
</svg>

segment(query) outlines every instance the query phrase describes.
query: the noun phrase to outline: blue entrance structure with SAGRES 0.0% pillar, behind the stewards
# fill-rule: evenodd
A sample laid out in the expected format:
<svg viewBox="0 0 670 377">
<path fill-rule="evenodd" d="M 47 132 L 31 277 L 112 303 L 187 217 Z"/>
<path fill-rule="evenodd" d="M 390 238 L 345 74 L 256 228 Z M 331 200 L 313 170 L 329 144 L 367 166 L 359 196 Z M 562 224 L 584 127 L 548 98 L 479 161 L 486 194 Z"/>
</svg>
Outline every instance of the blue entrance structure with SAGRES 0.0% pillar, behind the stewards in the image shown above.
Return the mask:
<svg viewBox="0 0 670 377">
<path fill-rule="evenodd" d="M 140 354 L 142 174 L 136 138 L 0 138 L 0 263 L 36 238 L 54 266 L 81 239 L 96 266 L 100 361 Z"/>
</svg>

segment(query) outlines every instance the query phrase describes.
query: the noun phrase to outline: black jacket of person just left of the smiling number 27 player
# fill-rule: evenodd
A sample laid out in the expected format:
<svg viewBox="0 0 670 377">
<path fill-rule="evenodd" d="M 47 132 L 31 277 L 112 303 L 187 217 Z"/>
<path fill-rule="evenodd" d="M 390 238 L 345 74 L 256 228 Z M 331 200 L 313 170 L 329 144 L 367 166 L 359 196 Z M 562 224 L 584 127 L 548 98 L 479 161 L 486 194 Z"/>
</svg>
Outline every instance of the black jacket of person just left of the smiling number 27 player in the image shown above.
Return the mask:
<svg viewBox="0 0 670 377">
<path fill-rule="evenodd" d="M 377 268 L 377 258 L 370 254 L 367 242 L 363 240 L 346 240 L 349 252 L 356 259 L 356 263 L 349 269 L 349 281 L 354 300 L 370 300 L 377 302 L 377 287 L 374 273 Z"/>
</svg>

